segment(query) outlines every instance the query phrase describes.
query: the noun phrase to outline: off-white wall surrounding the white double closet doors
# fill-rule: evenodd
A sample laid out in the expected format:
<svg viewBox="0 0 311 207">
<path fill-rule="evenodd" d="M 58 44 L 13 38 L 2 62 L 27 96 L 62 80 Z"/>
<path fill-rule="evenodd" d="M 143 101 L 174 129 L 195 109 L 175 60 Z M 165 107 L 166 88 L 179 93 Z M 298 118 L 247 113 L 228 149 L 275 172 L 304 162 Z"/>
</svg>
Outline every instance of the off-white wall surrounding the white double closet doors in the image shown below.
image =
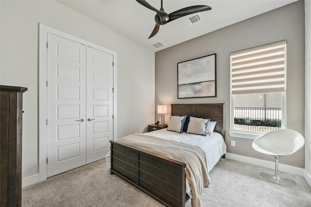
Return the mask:
<svg viewBox="0 0 311 207">
<path fill-rule="evenodd" d="M 56 1 L 0 1 L 0 19 L 0 84 L 28 87 L 23 100 L 22 178 L 39 173 L 38 23 L 117 52 L 118 137 L 142 133 L 155 121 L 153 51 Z"/>
</svg>

